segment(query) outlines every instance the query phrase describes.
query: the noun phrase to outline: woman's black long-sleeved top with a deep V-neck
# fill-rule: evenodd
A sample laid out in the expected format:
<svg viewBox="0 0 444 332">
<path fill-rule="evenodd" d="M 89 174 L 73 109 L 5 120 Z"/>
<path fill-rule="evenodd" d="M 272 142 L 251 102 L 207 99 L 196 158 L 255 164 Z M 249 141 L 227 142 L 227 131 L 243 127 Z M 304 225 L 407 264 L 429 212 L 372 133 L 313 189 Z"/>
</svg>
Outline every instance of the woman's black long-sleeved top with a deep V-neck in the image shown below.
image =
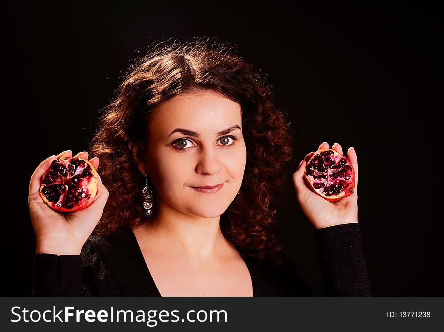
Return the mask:
<svg viewBox="0 0 444 332">
<path fill-rule="evenodd" d="M 371 296 L 357 223 L 314 231 L 325 296 Z M 289 258 L 243 258 L 253 296 L 312 296 Z M 80 255 L 34 255 L 33 296 L 161 296 L 129 227 L 90 236 Z"/>
</svg>

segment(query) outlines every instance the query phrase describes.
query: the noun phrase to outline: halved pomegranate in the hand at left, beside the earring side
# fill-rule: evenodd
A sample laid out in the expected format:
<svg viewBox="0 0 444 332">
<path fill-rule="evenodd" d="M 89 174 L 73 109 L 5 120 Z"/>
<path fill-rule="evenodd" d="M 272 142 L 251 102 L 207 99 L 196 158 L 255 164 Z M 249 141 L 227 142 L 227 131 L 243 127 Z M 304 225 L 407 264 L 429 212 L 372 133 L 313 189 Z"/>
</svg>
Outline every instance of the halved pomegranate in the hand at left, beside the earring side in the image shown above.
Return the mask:
<svg viewBox="0 0 444 332">
<path fill-rule="evenodd" d="M 85 159 L 55 159 L 43 174 L 40 196 L 52 209 L 74 212 L 87 208 L 97 194 L 97 171 Z"/>
</svg>

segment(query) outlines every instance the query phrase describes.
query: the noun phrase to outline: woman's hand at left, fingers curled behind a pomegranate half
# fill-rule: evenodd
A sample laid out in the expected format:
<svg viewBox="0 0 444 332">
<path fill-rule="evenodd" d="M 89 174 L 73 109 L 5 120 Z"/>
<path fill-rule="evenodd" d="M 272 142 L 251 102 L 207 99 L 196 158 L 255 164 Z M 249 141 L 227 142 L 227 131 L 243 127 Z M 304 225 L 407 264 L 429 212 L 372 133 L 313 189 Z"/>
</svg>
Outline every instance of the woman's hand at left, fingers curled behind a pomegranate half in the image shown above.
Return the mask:
<svg viewBox="0 0 444 332">
<path fill-rule="evenodd" d="M 83 245 L 100 220 L 108 199 L 108 190 L 101 181 L 97 181 L 97 195 L 94 202 L 86 209 L 67 213 L 51 209 L 40 197 L 40 181 L 42 175 L 49 170 L 52 161 L 61 157 L 72 157 L 71 150 L 45 159 L 34 171 L 29 184 L 28 206 L 37 237 L 36 252 L 75 255 L 80 254 Z M 75 157 L 88 159 L 88 153 L 80 152 Z M 99 159 L 92 158 L 90 162 L 97 169 Z"/>
</svg>

